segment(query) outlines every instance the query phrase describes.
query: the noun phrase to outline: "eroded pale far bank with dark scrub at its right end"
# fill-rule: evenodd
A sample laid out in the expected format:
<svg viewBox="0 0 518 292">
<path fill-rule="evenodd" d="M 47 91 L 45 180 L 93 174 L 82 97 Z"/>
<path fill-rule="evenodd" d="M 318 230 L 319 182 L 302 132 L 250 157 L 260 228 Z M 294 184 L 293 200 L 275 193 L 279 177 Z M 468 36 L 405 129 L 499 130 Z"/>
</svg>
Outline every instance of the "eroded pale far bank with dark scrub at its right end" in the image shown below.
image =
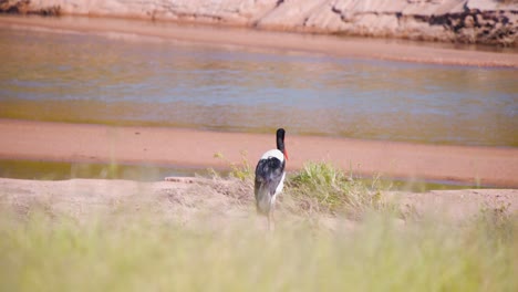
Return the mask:
<svg viewBox="0 0 518 292">
<path fill-rule="evenodd" d="M 0 2 L 0 11 L 174 20 L 260 28 L 516 46 L 516 1 L 28 1 Z"/>
</svg>

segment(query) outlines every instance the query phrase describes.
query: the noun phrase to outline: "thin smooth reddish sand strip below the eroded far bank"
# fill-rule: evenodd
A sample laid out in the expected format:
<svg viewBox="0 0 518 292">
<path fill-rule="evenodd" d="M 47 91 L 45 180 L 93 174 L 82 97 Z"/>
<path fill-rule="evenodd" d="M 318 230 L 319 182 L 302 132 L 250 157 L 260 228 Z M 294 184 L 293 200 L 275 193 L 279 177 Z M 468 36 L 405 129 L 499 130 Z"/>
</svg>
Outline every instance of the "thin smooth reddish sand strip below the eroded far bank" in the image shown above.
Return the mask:
<svg viewBox="0 0 518 292">
<path fill-rule="evenodd" d="M 330 35 L 280 33 L 250 29 L 177 25 L 151 21 L 123 21 L 85 18 L 40 18 L 1 15 L 2 27 L 74 31 L 82 33 L 120 33 L 165 40 L 201 43 L 224 48 L 248 48 L 327 54 L 344 58 L 379 59 L 434 64 L 518 67 L 518 54 L 467 51 L 431 46 L 423 43 L 397 43 L 382 39 L 350 39 Z"/>
</svg>

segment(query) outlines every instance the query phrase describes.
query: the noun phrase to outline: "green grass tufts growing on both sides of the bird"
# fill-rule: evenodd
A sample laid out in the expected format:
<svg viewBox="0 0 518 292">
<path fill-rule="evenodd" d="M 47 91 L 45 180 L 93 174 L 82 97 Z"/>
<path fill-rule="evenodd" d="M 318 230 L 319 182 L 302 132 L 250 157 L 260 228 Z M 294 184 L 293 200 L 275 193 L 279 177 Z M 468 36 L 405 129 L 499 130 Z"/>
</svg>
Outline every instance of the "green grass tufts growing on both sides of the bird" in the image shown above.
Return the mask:
<svg viewBox="0 0 518 292">
<path fill-rule="evenodd" d="M 248 161 L 246 153 L 241 153 L 241 161 L 237 164 L 226 160 L 220 153 L 214 157 L 229 165 L 229 178 L 253 185 L 255 168 Z M 217 171 L 210 173 L 213 177 L 220 178 Z M 383 182 L 379 177 L 371 180 L 356 179 L 330 163 L 307 163 L 301 170 L 287 176 L 284 194 L 280 200 L 294 212 L 345 213 L 352 218 L 361 217 L 369 210 L 397 212 L 382 196 L 382 190 L 390 186 L 390 182 Z"/>
</svg>

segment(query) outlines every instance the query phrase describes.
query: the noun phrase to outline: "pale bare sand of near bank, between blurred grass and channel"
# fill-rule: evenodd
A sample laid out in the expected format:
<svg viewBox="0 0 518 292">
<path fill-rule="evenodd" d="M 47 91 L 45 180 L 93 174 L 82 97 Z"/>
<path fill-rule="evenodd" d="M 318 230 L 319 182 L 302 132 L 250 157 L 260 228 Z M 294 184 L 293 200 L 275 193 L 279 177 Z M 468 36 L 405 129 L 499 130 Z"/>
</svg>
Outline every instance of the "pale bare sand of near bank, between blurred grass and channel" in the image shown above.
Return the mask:
<svg viewBox="0 0 518 292">
<path fill-rule="evenodd" d="M 250 182 L 251 184 L 251 182 Z M 72 179 L 62 181 L 0 178 L 0 208 L 20 218 L 34 211 L 51 217 L 65 216 L 87 222 L 100 216 L 132 218 L 148 211 L 154 222 L 177 223 L 195 229 L 225 230 L 235 226 L 256 225 L 265 229 L 262 218 L 255 216 L 252 186 L 239 180 L 195 179 L 194 181 L 138 182 L 132 180 Z M 384 194 L 387 201 L 437 220 L 474 219 L 481 210 L 505 208 L 508 215 L 518 210 L 516 189 L 434 190 L 424 194 Z M 302 212 L 293 212 L 292 198 L 283 194 L 277 216 L 284 227 L 303 222 Z M 291 206 L 291 207 L 290 207 Z M 121 212 L 121 210 L 125 210 Z M 299 210 L 300 211 L 300 210 Z M 319 213 L 324 229 L 352 229 L 358 222 Z"/>
</svg>

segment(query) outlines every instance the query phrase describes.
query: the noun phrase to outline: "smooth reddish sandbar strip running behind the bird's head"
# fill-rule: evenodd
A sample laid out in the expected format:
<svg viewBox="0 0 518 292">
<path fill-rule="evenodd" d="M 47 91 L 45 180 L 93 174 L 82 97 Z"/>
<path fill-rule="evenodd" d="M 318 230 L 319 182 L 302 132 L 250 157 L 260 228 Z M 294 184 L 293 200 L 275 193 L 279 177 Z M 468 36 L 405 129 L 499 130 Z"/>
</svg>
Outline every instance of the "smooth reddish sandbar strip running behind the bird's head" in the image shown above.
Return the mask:
<svg viewBox="0 0 518 292">
<path fill-rule="evenodd" d="M 354 174 L 518 186 L 518 149 L 287 135 L 289 169 L 332 161 Z M 255 164 L 274 136 L 164 127 L 113 127 L 0 119 L 1 159 L 228 167 Z M 221 154 L 225 160 L 215 158 Z M 227 160 L 227 161 L 226 161 Z"/>
</svg>

